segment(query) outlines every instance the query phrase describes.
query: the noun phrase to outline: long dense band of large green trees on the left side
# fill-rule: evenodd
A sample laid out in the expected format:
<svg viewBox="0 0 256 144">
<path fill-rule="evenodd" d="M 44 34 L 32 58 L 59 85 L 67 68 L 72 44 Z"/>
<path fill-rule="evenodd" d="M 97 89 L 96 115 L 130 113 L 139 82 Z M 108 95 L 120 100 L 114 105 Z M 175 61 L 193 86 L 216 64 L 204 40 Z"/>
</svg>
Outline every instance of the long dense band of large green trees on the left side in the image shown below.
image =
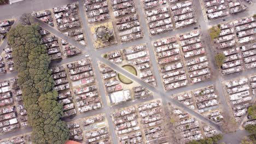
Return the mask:
<svg viewBox="0 0 256 144">
<path fill-rule="evenodd" d="M 68 140 L 66 123 L 61 120 L 62 105 L 53 91 L 49 70 L 50 57 L 40 42 L 39 25 L 12 28 L 8 41 L 13 47 L 14 67 L 27 110 L 28 124 L 33 128 L 33 143 L 62 144 Z"/>
</svg>

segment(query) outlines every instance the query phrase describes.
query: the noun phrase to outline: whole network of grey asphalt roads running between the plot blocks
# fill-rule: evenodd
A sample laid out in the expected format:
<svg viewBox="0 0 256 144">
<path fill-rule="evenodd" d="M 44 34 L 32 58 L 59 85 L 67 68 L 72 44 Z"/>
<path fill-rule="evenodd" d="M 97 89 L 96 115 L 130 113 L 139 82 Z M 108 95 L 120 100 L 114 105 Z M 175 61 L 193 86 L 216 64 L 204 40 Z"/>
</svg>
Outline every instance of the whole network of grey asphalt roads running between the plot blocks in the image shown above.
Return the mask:
<svg viewBox="0 0 256 144">
<path fill-rule="evenodd" d="M 39 10 L 43 10 L 43 9 L 49 9 L 49 8 L 53 8 L 53 7 L 62 5 L 62 4 L 68 4 L 68 3 L 71 3 L 71 2 L 76 2 L 76 1 L 71 1 L 71 0 L 55 0 L 55 1 L 49 1 L 49 0 L 46 0 L 46 1 L 45 0 L 44 1 L 43 0 L 26 0 L 24 2 L 16 3 L 16 4 L 13 4 L 13 5 L 2 5 L 2 6 L 0 6 L 0 20 L 9 19 L 11 17 L 19 17 L 23 13 L 31 13 L 32 11 L 39 11 Z M 154 57 L 153 47 L 151 45 L 153 40 L 164 38 L 164 37 L 170 37 L 171 35 L 176 35 L 178 33 L 184 33 L 184 32 L 187 32 L 187 31 L 191 31 L 191 30 L 193 30 L 194 27 L 200 27 L 201 30 L 202 30 L 203 37 L 207 38 L 208 37 L 207 36 L 208 35 L 207 29 L 210 27 L 210 25 L 217 25 L 219 22 L 223 22 L 223 19 L 216 20 L 216 21 L 211 21 L 211 22 L 206 22 L 203 19 L 202 11 L 201 11 L 201 5 L 199 4 L 199 1 L 198 2 L 194 1 L 194 2 L 195 2 L 194 5 L 195 5 L 196 14 L 197 14 L 197 21 L 198 21 L 197 24 L 185 27 L 183 29 L 178 29 L 176 31 L 172 31 L 172 32 L 156 35 L 156 36 L 153 36 L 153 37 L 149 37 L 148 29 L 147 29 L 147 22 L 145 21 L 145 19 L 143 19 L 144 18 L 144 14 L 143 14 L 144 11 L 141 8 L 141 5 L 138 3 L 138 1 L 136 1 L 136 5 L 138 5 L 137 6 L 138 7 L 137 11 L 138 11 L 138 15 L 139 15 L 139 17 L 141 19 L 141 25 L 142 25 L 142 27 L 144 29 L 145 37 L 142 38 L 142 39 L 136 40 L 136 41 L 132 41 L 131 43 L 122 44 L 121 47 L 124 48 L 124 47 L 132 46 L 132 45 L 148 43 L 150 57 L 152 59 L 152 64 L 153 64 L 153 68 L 154 68 L 154 73 L 155 73 L 155 76 L 159 78 L 160 75 L 159 75 L 159 71 L 157 70 L 157 63 L 156 63 L 156 60 L 155 60 L 155 57 Z M 85 16 L 83 14 L 81 3 L 79 3 L 79 6 L 80 6 L 79 7 L 80 8 L 79 13 L 80 13 L 80 15 L 82 15 L 82 22 L 83 22 L 84 29 L 88 30 L 89 28 L 88 28 L 88 25 L 86 23 L 87 21 L 85 19 Z M 8 13 L 6 11 L 8 11 Z M 226 21 L 234 20 L 234 19 L 238 19 L 240 17 L 244 17 L 244 16 L 248 16 L 248 15 L 252 15 L 252 14 L 255 14 L 255 10 L 254 10 L 253 6 L 250 7 L 249 10 L 246 11 L 245 13 L 241 13 L 241 14 L 237 14 L 237 15 L 234 15 L 234 16 L 226 17 L 224 19 Z M 216 83 L 216 85 L 221 86 L 220 85 L 220 79 L 217 80 L 217 81 L 216 80 L 211 80 L 211 81 L 197 83 L 195 85 L 174 89 L 173 91 L 165 93 L 164 91 L 162 91 L 162 86 L 161 86 L 160 79 L 157 79 L 158 87 L 156 87 L 156 88 L 152 87 L 152 86 L 148 85 L 148 83 L 146 83 L 146 82 L 142 81 L 141 79 L 139 79 L 137 76 L 130 74 L 128 71 L 118 67 L 118 65 L 116 65 L 114 63 L 111 63 L 111 62 L 109 62 L 106 59 L 101 57 L 101 53 L 105 53 L 105 52 L 108 52 L 108 51 L 113 51 L 113 50 L 120 49 L 120 45 L 112 46 L 112 47 L 109 47 L 107 49 L 95 50 L 93 48 L 93 46 L 92 46 L 92 43 L 91 43 L 91 40 L 90 40 L 90 35 L 89 35 L 88 31 L 85 31 L 85 36 L 88 39 L 88 41 L 87 41 L 88 42 L 88 46 L 85 47 L 83 45 L 80 45 L 79 43 L 77 43 L 73 39 L 71 39 L 69 37 L 66 37 L 61 32 L 59 32 L 56 29 L 46 25 L 45 23 L 43 23 L 43 22 L 39 22 L 39 23 L 40 23 L 40 25 L 43 28 L 45 28 L 48 31 L 50 31 L 50 32 L 54 33 L 55 35 L 57 35 L 57 37 L 65 39 L 69 44 L 72 44 L 75 47 L 78 47 L 79 49 L 83 50 L 84 52 L 87 52 L 92 57 L 92 65 L 93 65 L 93 67 L 95 69 L 96 79 L 98 81 L 98 86 L 99 86 L 100 92 L 102 94 L 102 101 L 103 101 L 103 106 L 104 107 L 101 110 L 91 111 L 91 112 L 88 112 L 88 113 L 81 113 L 78 116 L 66 119 L 66 121 L 71 121 L 71 120 L 77 119 L 77 118 L 83 118 L 83 117 L 87 117 L 87 116 L 91 116 L 91 115 L 96 115 L 97 113 L 102 113 L 102 112 L 106 113 L 106 116 L 107 116 L 107 119 L 108 119 L 109 128 L 110 128 L 110 134 L 113 137 L 112 138 L 113 141 L 117 141 L 117 137 L 115 136 L 114 130 L 113 130 L 113 123 L 112 123 L 111 118 L 109 117 L 110 116 L 110 113 L 109 113 L 110 109 L 112 109 L 112 108 L 119 109 L 119 108 L 121 108 L 121 107 L 123 107 L 125 105 L 130 105 L 130 104 L 132 105 L 132 104 L 135 104 L 135 103 L 133 103 L 133 101 L 130 101 L 130 102 L 127 102 L 124 105 L 117 105 L 117 106 L 113 106 L 113 107 L 109 107 L 107 105 L 106 95 L 104 94 L 105 93 L 104 92 L 104 87 L 103 87 L 103 83 L 101 81 L 101 74 L 100 74 L 100 71 L 97 68 L 97 61 L 102 61 L 105 64 L 109 65 L 109 67 L 111 67 L 114 70 L 116 70 L 118 73 L 122 73 L 123 75 L 129 77 L 129 79 L 139 83 L 141 86 L 144 86 L 144 87 L 148 88 L 150 91 L 154 92 L 154 94 L 157 96 L 156 98 L 161 97 L 163 99 L 163 101 L 170 101 L 170 103 L 172 103 L 172 104 L 174 104 L 174 105 L 176 105 L 178 107 L 181 107 L 181 109 L 183 109 L 183 110 L 187 111 L 188 113 L 190 113 L 191 115 L 195 116 L 200 121 L 202 121 L 204 123 L 207 123 L 207 124 L 210 124 L 212 127 L 220 130 L 219 125 L 217 125 L 216 123 L 210 121 L 206 117 L 203 117 L 200 113 L 197 113 L 194 110 L 189 109 L 187 106 L 185 106 L 184 104 L 180 103 L 179 101 L 170 98 L 171 94 L 175 94 L 175 93 L 183 92 L 183 91 L 189 91 L 191 89 L 199 88 L 199 87 L 206 86 L 206 85 L 212 85 L 213 83 Z M 0 47 L 0 50 L 4 48 L 4 45 L 6 45 L 6 44 L 3 44 Z M 206 45 L 210 45 L 208 40 L 206 40 Z M 207 52 L 211 52 L 212 51 L 210 46 L 206 47 L 206 49 L 207 49 Z M 79 55 L 79 56 L 63 59 L 60 62 L 52 63 L 52 65 L 57 65 L 57 64 L 77 61 L 78 59 L 82 59 L 82 58 L 84 58 L 84 55 Z M 214 62 L 213 57 L 211 55 L 210 55 L 210 62 L 211 63 Z M 214 70 L 214 67 L 213 67 L 212 70 Z M 228 80 L 228 79 L 230 79 L 230 77 L 244 76 L 244 75 L 252 74 L 252 73 L 253 73 L 253 70 L 243 71 L 242 73 L 239 73 L 237 75 L 234 74 L 234 75 L 229 75 L 229 76 L 223 76 L 223 80 Z M 11 73 L 11 74 L 1 75 L 0 79 L 8 79 L 8 77 L 16 76 L 16 74 L 17 73 L 14 72 L 14 73 Z M 216 76 L 220 77 L 219 74 L 216 74 Z M 223 93 L 223 92 L 220 92 L 220 93 Z M 224 97 L 223 98 L 220 97 L 220 98 L 221 98 L 222 103 L 225 103 L 225 101 L 223 99 Z M 149 99 L 153 99 L 153 98 L 149 98 Z M 141 101 L 144 101 L 144 100 L 136 100 L 136 103 L 140 103 Z M 164 103 L 166 103 L 166 102 L 164 102 Z M 14 136 L 14 135 L 19 135 L 19 134 L 22 134 L 22 133 L 27 133 L 27 131 L 31 131 L 31 128 L 26 128 L 25 130 L 14 131 L 12 133 L 7 133 L 5 135 L 1 135 L 0 139 L 4 139 L 5 137 L 10 137 L 10 136 Z"/>
</svg>

